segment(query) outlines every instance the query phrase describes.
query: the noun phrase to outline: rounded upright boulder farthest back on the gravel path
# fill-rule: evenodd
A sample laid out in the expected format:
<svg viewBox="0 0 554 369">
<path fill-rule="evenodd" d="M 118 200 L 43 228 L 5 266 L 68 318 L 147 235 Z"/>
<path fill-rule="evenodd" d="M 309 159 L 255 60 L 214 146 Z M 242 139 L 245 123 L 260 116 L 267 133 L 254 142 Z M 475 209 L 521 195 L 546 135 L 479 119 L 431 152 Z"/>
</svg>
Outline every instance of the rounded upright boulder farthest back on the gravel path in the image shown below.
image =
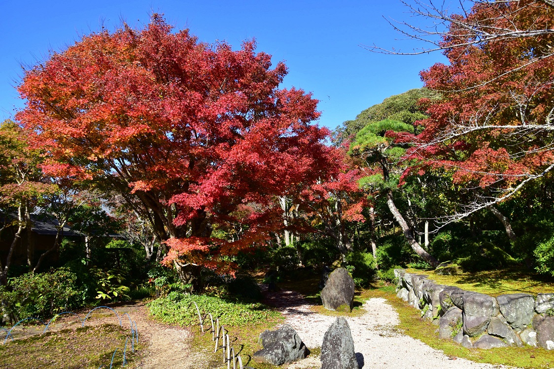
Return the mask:
<svg viewBox="0 0 554 369">
<path fill-rule="evenodd" d="M 337 268 L 321 290 L 321 302 L 327 310 L 352 311 L 354 306 L 354 280 L 345 268 Z"/>
</svg>

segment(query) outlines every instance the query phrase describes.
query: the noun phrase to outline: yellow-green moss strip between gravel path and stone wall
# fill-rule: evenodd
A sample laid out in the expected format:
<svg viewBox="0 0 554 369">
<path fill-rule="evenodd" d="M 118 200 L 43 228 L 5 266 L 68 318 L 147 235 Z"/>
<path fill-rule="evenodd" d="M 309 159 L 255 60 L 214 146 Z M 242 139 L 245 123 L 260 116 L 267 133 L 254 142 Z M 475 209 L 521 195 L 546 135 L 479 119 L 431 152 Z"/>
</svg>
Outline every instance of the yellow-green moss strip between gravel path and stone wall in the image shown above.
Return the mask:
<svg viewBox="0 0 554 369">
<path fill-rule="evenodd" d="M 437 326 L 428 320 L 422 319 L 419 310 L 397 298 L 392 286 L 368 290 L 366 296 L 386 298 L 398 313 L 400 324 L 397 329 L 399 332 L 418 339 L 434 349 L 441 350 L 452 358 L 463 357 L 476 362 L 520 368 L 550 368 L 554 365 L 552 352 L 540 347 L 525 346 L 521 348 L 505 347 L 479 350 L 465 349 L 465 347 L 455 344 L 451 340 L 440 340 L 435 333 Z"/>
</svg>

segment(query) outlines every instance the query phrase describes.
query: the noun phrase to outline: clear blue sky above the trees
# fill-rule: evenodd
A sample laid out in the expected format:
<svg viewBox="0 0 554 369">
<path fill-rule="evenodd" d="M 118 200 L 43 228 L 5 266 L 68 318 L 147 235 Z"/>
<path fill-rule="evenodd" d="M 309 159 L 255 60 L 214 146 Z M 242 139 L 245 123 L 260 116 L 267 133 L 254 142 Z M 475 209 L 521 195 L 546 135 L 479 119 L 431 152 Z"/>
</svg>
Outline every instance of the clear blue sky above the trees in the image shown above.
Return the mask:
<svg viewBox="0 0 554 369">
<path fill-rule="evenodd" d="M 0 119 L 23 107 L 15 86 L 20 65 L 35 65 L 49 50 L 61 51 L 79 35 L 114 29 L 124 19 L 132 27 L 148 23 L 152 12 L 164 13 L 176 29 L 189 28 L 207 43 L 226 40 L 239 48 L 255 38 L 258 51 L 274 64 L 289 67 L 284 87 L 311 91 L 320 100 L 320 124 L 335 128 L 391 95 L 422 86 L 419 71 L 438 53 L 395 56 L 371 53 L 360 45 L 409 51 L 422 44 L 402 38 L 384 17 L 414 19 L 398 0 L 379 1 L 188 1 L 129 0 L 88 2 L 3 0 L 0 9 Z"/>
</svg>

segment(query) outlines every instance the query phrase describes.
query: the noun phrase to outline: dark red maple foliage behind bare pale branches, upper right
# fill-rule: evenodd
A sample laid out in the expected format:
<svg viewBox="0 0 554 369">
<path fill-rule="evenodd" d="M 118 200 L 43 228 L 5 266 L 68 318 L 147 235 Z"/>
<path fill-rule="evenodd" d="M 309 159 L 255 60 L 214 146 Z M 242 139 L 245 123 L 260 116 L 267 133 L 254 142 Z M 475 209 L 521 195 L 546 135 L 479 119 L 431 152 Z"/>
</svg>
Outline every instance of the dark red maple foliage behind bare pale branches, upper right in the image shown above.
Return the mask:
<svg viewBox="0 0 554 369">
<path fill-rule="evenodd" d="M 408 173 L 441 168 L 454 184 L 501 198 L 554 163 L 553 35 L 544 31 L 553 18 L 554 8 L 530 0 L 476 2 L 453 16 L 440 43 L 449 64 L 421 72 L 442 98 L 422 101 L 423 132 L 398 140 L 417 143 L 406 158 L 423 164 Z"/>
</svg>

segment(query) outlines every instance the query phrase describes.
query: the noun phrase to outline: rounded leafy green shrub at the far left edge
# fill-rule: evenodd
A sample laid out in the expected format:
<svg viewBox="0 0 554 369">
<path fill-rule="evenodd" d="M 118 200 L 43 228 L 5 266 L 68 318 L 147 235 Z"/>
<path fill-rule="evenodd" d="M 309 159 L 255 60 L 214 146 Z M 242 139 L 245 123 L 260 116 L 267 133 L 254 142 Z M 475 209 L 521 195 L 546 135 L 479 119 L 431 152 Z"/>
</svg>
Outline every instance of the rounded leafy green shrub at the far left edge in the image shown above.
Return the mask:
<svg viewBox="0 0 554 369">
<path fill-rule="evenodd" d="M 16 319 L 45 318 L 84 305 L 77 276 L 68 268 L 11 278 L 0 288 L 4 309 Z"/>
</svg>

